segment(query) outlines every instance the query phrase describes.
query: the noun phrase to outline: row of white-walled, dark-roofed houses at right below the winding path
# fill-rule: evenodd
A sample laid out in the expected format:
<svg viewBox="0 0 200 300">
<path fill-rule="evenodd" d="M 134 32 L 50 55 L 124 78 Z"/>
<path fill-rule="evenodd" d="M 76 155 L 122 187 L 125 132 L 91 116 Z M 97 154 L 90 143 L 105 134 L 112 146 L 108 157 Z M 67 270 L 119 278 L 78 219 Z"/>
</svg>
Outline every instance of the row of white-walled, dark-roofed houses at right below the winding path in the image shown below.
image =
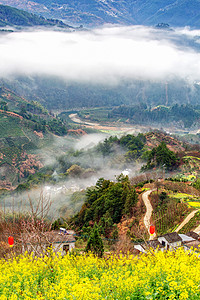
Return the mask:
<svg viewBox="0 0 200 300">
<path fill-rule="evenodd" d="M 154 250 L 175 250 L 184 247 L 185 250 L 193 248 L 200 250 L 200 237 L 197 233 L 190 231 L 187 234 L 179 234 L 177 232 L 167 233 L 154 240 L 134 246 L 139 252 L 145 253 L 148 249 Z"/>
</svg>

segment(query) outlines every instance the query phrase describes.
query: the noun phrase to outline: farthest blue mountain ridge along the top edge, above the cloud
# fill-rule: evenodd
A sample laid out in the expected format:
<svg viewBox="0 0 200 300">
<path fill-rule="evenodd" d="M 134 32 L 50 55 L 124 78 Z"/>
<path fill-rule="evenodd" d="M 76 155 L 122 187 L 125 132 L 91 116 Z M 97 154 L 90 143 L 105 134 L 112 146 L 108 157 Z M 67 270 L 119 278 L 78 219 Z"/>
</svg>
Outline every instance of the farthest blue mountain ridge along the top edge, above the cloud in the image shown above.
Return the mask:
<svg viewBox="0 0 200 300">
<path fill-rule="evenodd" d="M 200 27 L 199 0 L 1 0 L 0 3 L 76 25 L 169 23 Z"/>
</svg>

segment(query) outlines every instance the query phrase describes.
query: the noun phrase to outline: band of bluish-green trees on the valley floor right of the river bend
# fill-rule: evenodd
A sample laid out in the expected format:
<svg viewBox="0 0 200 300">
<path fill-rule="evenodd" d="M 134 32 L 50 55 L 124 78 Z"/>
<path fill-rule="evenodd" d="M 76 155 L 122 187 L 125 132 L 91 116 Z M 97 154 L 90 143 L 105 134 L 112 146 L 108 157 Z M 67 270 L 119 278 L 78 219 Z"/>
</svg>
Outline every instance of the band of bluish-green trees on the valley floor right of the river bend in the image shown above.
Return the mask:
<svg viewBox="0 0 200 300">
<path fill-rule="evenodd" d="M 182 121 L 185 127 L 191 127 L 199 119 L 200 113 L 197 106 L 188 104 L 173 106 L 148 107 L 146 104 L 134 106 L 119 106 L 109 112 L 108 117 L 128 118 L 134 123 L 169 123 Z"/>
</svg>

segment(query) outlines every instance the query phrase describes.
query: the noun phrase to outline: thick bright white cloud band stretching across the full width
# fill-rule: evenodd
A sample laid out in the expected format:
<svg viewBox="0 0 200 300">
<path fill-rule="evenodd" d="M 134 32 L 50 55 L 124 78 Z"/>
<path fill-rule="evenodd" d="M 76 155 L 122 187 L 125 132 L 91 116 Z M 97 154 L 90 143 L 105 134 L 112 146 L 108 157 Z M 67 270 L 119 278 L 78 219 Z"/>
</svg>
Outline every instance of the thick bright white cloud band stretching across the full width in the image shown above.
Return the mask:
<svg viewBox="0 0 200 300">
<path fill-rule="evenodd" d="M 67 81 L 200 80 L 199 31 L 110 27 L 88 32 L 34 31 L 0 36 L 0 76 L 56 75 Z M 178 42 L 177 42 L 178 41 Z"/>
</svg>

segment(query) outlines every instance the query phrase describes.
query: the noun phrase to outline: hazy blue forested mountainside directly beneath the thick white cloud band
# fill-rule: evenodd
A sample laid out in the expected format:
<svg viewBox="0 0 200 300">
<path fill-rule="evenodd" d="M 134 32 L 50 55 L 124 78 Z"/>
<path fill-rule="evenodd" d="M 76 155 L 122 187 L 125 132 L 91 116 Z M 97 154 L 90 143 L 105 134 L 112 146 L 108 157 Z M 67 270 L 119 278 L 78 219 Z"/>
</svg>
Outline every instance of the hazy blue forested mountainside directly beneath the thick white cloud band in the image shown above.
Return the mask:
<svg viewBox="0 0 200 300">
<path fill-rule="evenodd" d="M 200 104 L 198 84 L 189 85 L 184 80 L 165 82 L 126 81 L 117 86 L 100 84 L 66 83 L 55 77 L 18 77 L 0 80 L 29 100 L 37 100 L 49 110 L 70 110 L 84 107 L 135 105 L 147 106 Z"/>
</svg>

